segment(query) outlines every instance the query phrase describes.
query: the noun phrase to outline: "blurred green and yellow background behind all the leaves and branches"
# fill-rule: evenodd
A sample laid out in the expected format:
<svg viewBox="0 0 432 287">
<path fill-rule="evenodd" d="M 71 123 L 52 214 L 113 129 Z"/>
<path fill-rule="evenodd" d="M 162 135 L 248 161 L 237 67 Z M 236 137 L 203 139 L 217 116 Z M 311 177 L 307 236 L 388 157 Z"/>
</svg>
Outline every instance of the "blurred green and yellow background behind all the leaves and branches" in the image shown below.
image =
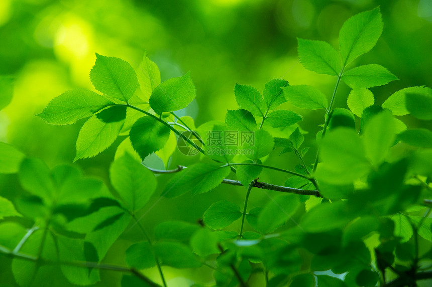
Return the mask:
<svg viewBox="0 0 432 287">
<path fill-rule="evenodd" d="M 262 91 L 268 80 L 284 78 L 291 85 L 318 87 L 330 98 L 336 79 L 302 67 L 297 59 L 296 37 L 328 41 L 337 48 L 344 21 L 379 5 L 383 35 L 376 47 L 354 65 L 380 64 L 400 79 L 372 88 L 376 103 L 381 104 L 399 89 L 432 86 L 431 0 L 1 0 L 0 75 L 13 78 L 14 98 L 0 111 L 0 141 L 44 160 L 50 167 L 71 163 L 84 121 L 52 126 L 34 115 L 69 89 L 93 90 L 88 75 L 95 53 L 125 59 L 136 68 L 147 52 L 159 66 L 162 81 L 191 71 L 197 95 L 186 111 L 196 126 L 208 120 L 224 120 L 227 109 L 237 108 L 235 83 Z M 348 93 L 349 88 L 343 84 L 336 107 L 346 107 Z M 315 137 L 317 124 L 323 121 L 322 112 L 309 113 L 289 104 L 282 108 L 303 115 L 300 126 L 309 131 L 306 139 Z M 409 117 L 405 122 L 410 127 L 431 127 Z M 95 158 L 76 164 L 87 175 L 101 177 L 109 184 L 108 168 L 123 138 Z M 310 145 L 313 147 L 313 143 Z M 309 162 L 314 150 L 306 157 Z M 171 165 L 196 161 L 196 157 L 176 151 Z M 267 161 L 268 165 L 289 169 L 296 163 L 289 154 L 274 155 Z M 160 177 L 161 188 L 168 178 Z M 283 184 L 286 178 L 265 171 L 261 179 Z M 195 197 L 160 201 L 156 197 L 148 205 L 148 213 L 143 210 L 143 221 L 149 229 L 168 219 L 195 221 L 220 198 L 242 204 L 244 191 L 241 187 L 220 186 Z M 14 199 L 22 192 L 16 175 L 0 177 L 0 195 Z M 257 190 L 252 193 L 250 206 L 260 206 L 266 198 L 267 194 Z M 128 242 L 118 243 L 106 260 L 118 261 Z M 168 273 L 168 279 L 181 273 L 176 272 Z M 195 275 L 210 280 L 211 270 Z M 106 276 L 118 279 L 120 275 Z M 116 280 L 112 281 L 114 285 Z"/>
</svg>

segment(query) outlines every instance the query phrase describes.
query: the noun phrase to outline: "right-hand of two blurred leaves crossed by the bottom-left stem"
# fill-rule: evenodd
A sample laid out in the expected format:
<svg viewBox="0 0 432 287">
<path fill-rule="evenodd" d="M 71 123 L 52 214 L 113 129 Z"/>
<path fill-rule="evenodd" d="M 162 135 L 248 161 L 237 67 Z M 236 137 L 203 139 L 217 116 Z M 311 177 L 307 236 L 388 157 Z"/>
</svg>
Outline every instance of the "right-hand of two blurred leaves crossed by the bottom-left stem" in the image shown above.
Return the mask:
<svg viewBox="0 0 432 287">
<path fill-rule="evenodd" d="M 84 241 L 57 235 L 59 259 L 67 262 L 87 261 L 84 254 Z M 61 270 L 69 282 L 77 285 L 91 285 L 100 280 L 97 268 L 83 268 L 60 264 Z"/>
</svg>

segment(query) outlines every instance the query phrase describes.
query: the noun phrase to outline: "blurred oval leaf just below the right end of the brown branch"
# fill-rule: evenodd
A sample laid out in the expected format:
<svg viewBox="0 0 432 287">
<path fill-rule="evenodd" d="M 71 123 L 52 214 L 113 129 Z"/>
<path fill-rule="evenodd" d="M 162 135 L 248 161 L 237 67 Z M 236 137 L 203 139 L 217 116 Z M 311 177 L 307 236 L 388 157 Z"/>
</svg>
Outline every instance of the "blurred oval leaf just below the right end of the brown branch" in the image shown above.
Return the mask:
<svg viewBox="0 0 432 287">
<path fill-rule="evenodd" d="M 323 232 L 342 228 L 351 220 L 348 206 L 343 201 L 321 203 L 313 207 L 301 219 L 300 226 L 307 232 Z"/>
</svg>

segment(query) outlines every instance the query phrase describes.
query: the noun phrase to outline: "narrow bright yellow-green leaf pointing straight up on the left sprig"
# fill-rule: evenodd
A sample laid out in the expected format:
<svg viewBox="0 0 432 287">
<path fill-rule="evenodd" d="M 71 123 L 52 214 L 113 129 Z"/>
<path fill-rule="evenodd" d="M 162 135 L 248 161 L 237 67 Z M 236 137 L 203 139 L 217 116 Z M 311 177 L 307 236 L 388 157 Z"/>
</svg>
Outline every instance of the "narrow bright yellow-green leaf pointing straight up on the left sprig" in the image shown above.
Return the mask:
<svg viewBox="0 0 432 287">
<path fill-rule="evenodd" d="M 161 83 L 161 74 L 158 66 L 144 55 L 137 71 L 138 83 L 144 96 L 150 98 L 153 90 Z"/>
</svg>

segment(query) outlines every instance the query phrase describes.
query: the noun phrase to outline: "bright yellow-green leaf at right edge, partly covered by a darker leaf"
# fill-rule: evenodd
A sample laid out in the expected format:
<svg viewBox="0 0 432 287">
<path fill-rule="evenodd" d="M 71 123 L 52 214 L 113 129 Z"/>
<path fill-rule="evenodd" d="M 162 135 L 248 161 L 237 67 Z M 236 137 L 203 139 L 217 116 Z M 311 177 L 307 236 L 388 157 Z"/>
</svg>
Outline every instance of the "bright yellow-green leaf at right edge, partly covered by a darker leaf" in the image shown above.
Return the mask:
<svg viewBox="0 0 432 287">
<path fill-rule="evenodd" d="M 388 99 L 382 104 L 382 107 L 384 109 L 389 109 L 395 116 L 406 115 L 409 113 L 405 104 L 405 99 L 408 97 L 408 94 L 417 94 L 427 97 L 428 95 L 432 95 L 432 89 L 419 86 L 399 90 L 388 97 Z"/>
</svg>

